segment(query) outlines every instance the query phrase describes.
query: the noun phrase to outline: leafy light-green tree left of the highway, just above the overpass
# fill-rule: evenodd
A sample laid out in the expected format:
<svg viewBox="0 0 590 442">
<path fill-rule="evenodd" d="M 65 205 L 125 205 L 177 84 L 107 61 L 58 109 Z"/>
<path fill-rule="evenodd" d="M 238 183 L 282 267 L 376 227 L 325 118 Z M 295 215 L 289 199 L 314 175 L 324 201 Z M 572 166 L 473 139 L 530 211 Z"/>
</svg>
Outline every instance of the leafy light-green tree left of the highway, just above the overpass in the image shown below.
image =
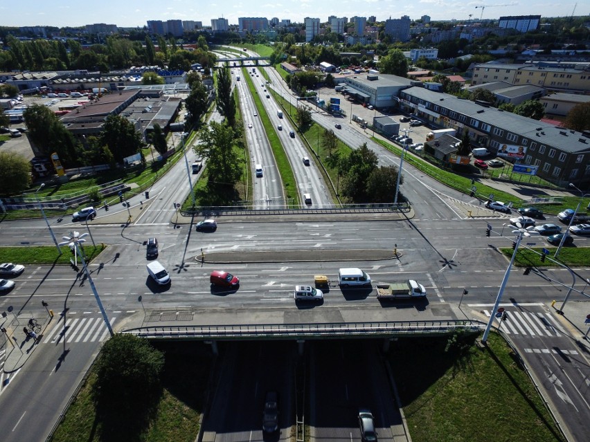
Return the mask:
<svg viewBox="0 0 590 442">
<path fill-rule="evenodd" d="M 209 183 L 233 187 L 242 173 L 241 165 L 233 154 L 233 129 L 213 121 L 199 131 L 199 138 L 201 142 L 195 146 L 195 152 L 208 158 Z"/>
</svg>

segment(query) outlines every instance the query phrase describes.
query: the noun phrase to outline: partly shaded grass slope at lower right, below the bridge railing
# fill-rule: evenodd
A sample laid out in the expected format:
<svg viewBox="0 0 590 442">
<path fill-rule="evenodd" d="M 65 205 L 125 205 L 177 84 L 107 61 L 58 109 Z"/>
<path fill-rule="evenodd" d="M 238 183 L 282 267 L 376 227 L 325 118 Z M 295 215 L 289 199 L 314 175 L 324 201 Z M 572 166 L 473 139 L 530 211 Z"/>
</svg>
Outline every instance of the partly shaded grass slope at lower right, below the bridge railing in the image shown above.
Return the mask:
<svg viewBox="0 0 590 442">
<path fill-rule="evenodd" d="M 515 354 L 491 333 L 474 338 L 405 338 L 393 369 L 413 442 L 564 441 Z"/>
</svg>

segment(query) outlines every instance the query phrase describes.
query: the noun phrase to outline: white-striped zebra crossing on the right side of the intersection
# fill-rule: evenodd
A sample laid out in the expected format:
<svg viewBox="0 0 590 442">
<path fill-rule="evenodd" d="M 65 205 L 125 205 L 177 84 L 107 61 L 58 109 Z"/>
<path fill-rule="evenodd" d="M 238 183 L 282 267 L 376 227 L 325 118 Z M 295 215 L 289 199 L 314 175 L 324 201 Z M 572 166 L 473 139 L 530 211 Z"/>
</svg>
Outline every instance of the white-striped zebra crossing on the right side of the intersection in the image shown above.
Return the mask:
<svg viewBox="0 0 590 442">
<path fill-rule="evenodd" d="M 484 313 L 487 317 L 491 315 L 488 310 L 484 310 Z M 501 315 L 494 315 L 494 326 L 507 335 L 562 336 L 565 334 L 564 329 L 552 315 L 519 309 L 506 309 L 505 320 L 501 319 Z"/>
</svg>

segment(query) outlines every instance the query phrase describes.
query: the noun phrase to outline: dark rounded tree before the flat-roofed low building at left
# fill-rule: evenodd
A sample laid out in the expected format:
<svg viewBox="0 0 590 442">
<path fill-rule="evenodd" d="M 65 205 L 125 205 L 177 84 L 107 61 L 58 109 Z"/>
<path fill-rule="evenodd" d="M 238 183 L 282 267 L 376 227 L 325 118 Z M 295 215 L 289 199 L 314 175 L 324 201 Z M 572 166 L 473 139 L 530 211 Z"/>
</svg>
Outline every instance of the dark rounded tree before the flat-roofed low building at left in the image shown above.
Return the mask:
<svg viewBox="0 0 590 442">
<path fill-rule="evenodd" d="M 118 163 L 123 163 L 123 158 L 138 153 L 143 147 L 141 134 L 133 123 L 119 115 L 107 117 L 100 139 L 103 145 L 109 147 Z"/>
</svg>

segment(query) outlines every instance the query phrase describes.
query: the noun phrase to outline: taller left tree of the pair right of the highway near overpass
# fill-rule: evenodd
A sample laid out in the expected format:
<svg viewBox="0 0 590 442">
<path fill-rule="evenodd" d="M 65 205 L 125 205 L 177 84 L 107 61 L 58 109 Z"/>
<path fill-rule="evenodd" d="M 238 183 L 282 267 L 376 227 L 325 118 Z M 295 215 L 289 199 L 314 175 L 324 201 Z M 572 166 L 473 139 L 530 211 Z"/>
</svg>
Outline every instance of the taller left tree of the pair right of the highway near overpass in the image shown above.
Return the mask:
<svg viewBox="0 0 590 442">
<path fill-rule="evenodd" d="M 341 194 L 355 203 L 370 201 L 367 182 L 377 163 L 379 163 L 377 155 L 367 147 L 366 143 L 350 151 L 348 157 L 343 158 L 341 163 L 341 169 L 347 171 L 343 178 Z"/>
</svg>

